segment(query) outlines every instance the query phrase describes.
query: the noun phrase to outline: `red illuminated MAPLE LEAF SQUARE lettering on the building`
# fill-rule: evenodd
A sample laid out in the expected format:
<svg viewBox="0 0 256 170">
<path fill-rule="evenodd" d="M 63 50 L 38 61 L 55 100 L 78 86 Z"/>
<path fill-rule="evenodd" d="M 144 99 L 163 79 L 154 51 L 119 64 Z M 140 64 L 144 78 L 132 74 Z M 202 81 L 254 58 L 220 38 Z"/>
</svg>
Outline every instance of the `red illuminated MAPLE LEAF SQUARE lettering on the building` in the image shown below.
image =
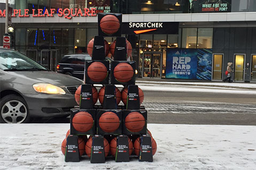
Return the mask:
<svg viewBox="0 0 256 170">
<path fill-rule="evenodd" d="M 5 17 L 5 10 L 0 10 L 0 17 Z M 32 17 L 54 17 L 53 14 L 58 14 L 58 17 L 64 17 L 71 19 L 72 17 L 95 17 L 97 15 L 95 8 L 85 8 L 83 11 L 81 9 L 33 9 Z M 13 9 L 12 17 L 29 17 L 29 9 Z"/>
</svg>

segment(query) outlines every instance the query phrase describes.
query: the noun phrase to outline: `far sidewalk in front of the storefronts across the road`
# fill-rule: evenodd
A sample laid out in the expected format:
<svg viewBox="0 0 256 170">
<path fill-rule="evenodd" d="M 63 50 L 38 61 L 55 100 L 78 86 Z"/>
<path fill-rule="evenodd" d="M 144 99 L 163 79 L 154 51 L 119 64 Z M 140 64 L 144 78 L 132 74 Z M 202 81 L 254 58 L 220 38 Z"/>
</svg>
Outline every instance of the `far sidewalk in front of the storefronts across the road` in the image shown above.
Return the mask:
<svg viewBox="0 0 256 170">
<path fill-rule="evenodd" d="M 224 87 L 256 90 L 256 83 L 224 83 L 224 82 L 201 82 L 199 80 L 173 80 L 173 79 L 156 79 L 156 78 L 137 78 L 136 83 L 149 84 L 169 84 L 169 85 L 187 85 L 187 86 L 207 86 L 207 87 Z"/>
</svg>

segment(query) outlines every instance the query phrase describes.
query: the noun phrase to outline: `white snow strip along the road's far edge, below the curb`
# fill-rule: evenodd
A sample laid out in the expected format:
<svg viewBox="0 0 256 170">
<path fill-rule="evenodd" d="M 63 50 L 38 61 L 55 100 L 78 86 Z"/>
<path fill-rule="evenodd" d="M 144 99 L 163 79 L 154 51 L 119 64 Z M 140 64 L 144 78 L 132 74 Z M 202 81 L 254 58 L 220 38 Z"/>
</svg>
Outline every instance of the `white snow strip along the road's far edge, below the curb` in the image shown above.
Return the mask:
<svg viewBox="0 0 256 170">
<path fill-rule="evenodd" d="M 165 91 L 165 92 L 207 92 L 207 93 L 235 93 L 235 94 L 256 94 L 256 90 L 236 89 L 227 87 L 206 87 L 189 85 L 169 85 L 169 84 L 146 84 L 137 83 L 143 91 Z"/>
</svg>

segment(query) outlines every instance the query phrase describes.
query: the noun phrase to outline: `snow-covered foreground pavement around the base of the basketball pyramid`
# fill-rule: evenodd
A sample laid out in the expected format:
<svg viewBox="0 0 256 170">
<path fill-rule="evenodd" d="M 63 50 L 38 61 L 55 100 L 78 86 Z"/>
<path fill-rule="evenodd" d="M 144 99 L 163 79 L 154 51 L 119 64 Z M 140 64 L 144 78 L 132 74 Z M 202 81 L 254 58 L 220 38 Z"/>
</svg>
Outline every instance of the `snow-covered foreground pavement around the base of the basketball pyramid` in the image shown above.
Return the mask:
<svg viewBox="0 0 256 170">
<path fill-rule="evenodd" d="M 256 126 L 148 124 L 153 162 L 66 163 L 60 145 L 69 124 L 0 124 L 0 169 L 255 169 Z"/>
</svg>

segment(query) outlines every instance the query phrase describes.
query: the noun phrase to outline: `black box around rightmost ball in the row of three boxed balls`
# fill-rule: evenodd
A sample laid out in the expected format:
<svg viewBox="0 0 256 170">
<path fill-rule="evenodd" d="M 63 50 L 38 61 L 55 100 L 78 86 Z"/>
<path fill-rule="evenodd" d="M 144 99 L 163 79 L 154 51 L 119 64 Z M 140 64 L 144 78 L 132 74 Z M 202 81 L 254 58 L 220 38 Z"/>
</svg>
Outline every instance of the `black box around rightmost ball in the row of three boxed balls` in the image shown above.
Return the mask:
<svg viewBox="0 0 256 170">
<path fill-rule="evenodd" d="M 145 125 L 139 132 L 131 132 L 126 128 L 125 119 L 128 114 L 131 112 L 139 112 L 145 119 Z M 146 126 L 147 126 L 147 119 L 148 119 L 148 111 L 146 110 L 122 110 L 122 134 L 126 135 L 145 135 L 146 134 Z"/>
</svg>

